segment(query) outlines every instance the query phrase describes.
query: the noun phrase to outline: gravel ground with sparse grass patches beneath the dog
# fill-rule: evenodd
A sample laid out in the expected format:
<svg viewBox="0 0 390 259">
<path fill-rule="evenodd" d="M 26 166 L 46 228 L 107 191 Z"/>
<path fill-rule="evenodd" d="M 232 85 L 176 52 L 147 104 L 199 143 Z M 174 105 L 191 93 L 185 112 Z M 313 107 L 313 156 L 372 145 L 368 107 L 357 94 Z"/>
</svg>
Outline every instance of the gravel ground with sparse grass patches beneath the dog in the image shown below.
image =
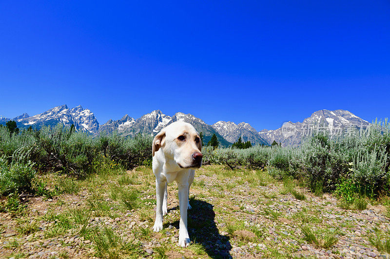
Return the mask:
<svg viewBox="0 0 390 259">
<path fill-rule="evenodd" d="M 261 181 L 253 180 L 255 173 L 232 172 L 218 166 L 197 170 L 190 191 L 193 209 L 188 214 L 188 230 L 195 243 L 189 248 L 176 245 L 179 220 L 176 185 L 168 188 L 169 210 L 164 217 L 164 229 L 159 233 L 151 231 L 156 209 L 154 176 L 151 169 L 143 168 L 127 172 L 141 181 L 135 185 L 140 191 L 141 204 L 135 209 L 126 210 L 113 198 L 112 185 L 117 184 L 119 177 L 114 175 L 94 188 L 91 183 L 80 183 L 77 194 L 31 198 L 22 216 L 0 213 L 0 256 L 110 257 L 98 253 L 97 240 L 91 235 L 105 227 L 123 242 L 135 244 L 134 253 L 131 249 L 113 250 L 113 254 L 119 251 L 118 258 L 390 258 L 369 242 L 375 228 L 389 235 L 384 206 L 369 203 L 362 211 L 345 210 L 337 206 L 338 199 L 332 195 L 317 197 L 295 187 L 305 195 L 305 200 L 297 200 L 291 193 L 282 194 L 281 182 L 267 178 L 264 184 L 264 175 Z M 90 201 L 94 199 L 109 207 L 92 208 Z M 87 221 L 85 224 L 69 221 L 67 227 L 56 233 L 56 227 L 63 221 L 49 214 L 66 217 L 70 215 L 69 208 L 87 211 Z M 308 242 L 302 226 L 309 226 L 317 237 L 332 233 L 337 241 L 327 248 Z M 82 227 L 86 231 L 82 232 Z"/>
</svg>

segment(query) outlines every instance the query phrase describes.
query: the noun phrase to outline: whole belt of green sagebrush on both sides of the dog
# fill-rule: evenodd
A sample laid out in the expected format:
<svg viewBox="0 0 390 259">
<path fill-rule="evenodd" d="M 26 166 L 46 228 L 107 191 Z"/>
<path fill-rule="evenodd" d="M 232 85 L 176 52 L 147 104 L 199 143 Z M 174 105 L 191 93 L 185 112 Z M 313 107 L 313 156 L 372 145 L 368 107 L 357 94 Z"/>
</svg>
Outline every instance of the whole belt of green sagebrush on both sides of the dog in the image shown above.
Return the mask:
<svg viewBox="0 0 390 259">
<path fill-rule="evenodd" d="M 277 178 L 303 178 L 312 192 L 336 191 L 348 203 L 354 194 L 374 196 L 390 189 L 390 124 L 375 121 L 366 130 L 340 138 L 317 134 L 297 148 L 203 147 L 203 164 L 231 169 L 267 168 Z M 113 134 L 93 137 L 57 125 L 10 134 L 0 127 L 0 191 L 31 191 L 35 171 L 84 178 L 92 173 L 150 166 L 152 137 Z M 41 186 L 42 187 L 42 186 Z M 42 189 L 42 188 L 41 188 Z"/>
</svg>

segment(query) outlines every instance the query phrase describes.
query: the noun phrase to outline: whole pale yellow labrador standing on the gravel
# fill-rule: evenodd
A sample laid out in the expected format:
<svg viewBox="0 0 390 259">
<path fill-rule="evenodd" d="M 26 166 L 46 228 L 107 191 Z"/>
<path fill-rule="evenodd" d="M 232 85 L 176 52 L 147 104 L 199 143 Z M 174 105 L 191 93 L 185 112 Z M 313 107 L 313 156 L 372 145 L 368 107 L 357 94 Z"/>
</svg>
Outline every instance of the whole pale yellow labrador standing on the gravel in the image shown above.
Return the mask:
<svg viewBox="0 0 390 259">
<path fill-rule="evenodd" d="M 195 128 L 186 122 L 176 121 L 156 135 L 152 144 L 153 172 L 156 176 L 156 222 L 153 230 L 162 229 L 162 216 L 167 214 L 167 183 L 176 181 L 179 188 L 180 225 L 179 246 L 190 245 L 187 231 L 189 190 L 194 181 L 195 169 L 202 165 L 202 143 Z"/>
</svg>

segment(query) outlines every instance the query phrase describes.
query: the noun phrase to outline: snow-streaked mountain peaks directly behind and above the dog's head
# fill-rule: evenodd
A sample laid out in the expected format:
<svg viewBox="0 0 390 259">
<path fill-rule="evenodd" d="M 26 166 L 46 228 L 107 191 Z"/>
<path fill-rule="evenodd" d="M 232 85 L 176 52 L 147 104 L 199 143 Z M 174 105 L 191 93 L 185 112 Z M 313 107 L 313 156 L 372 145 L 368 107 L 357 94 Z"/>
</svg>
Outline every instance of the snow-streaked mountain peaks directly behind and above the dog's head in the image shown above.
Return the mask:
<svg viewBox="0 0 390 259">
<path fill-rule="evenodd" d="M 192 114 L 184 114 L 182 112 L 176 112 L 175 115 L 169 116 L 162 113 L 159 110 L 147 113 L 137 120 L 133 118 L 125 119 L 126 115 L 117 121 L 109 120 L 100 127 L 100 132 L 110 133 L 117 130 L 121 135 L 134 136 L 138 133 L 146 133 L 156 135 L 161 129 L 175 121 L 184 121 L 191 123 L 198 132 L 203 133 L 203 141 L 209 142 L 213 134 L 218 138 L 219 143 L 224 146 L 231 145 L 226 141 L 213 127 L 206 124 L 203 120 L 196 118 Z M 127 124 L 126 124 L 127 123 Z"/>
</svg>

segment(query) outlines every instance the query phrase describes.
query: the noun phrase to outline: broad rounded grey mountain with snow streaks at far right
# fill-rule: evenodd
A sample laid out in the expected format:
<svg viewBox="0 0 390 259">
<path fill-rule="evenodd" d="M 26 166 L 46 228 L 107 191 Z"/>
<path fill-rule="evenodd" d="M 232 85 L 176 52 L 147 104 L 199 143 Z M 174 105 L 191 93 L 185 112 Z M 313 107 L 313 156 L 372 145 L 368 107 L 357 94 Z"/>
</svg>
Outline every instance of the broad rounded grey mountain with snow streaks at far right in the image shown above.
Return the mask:
<svg viewBox="0 0 390 259">
<path fill-rule="evenodd" d="M 286 146 L 299 146 L 303 138 L 311 136 L 315 132 L 324 132 L 331 137 L 341 136 L 355 129 L 366 129 L 370 123 L 350 111 L 345 110 L 320 110 L 315 111 L 303 122 L 286 122 L 279 129 L 263 129 L 259 134 L 268 143 L 282 143 Z"/>
</svg>

